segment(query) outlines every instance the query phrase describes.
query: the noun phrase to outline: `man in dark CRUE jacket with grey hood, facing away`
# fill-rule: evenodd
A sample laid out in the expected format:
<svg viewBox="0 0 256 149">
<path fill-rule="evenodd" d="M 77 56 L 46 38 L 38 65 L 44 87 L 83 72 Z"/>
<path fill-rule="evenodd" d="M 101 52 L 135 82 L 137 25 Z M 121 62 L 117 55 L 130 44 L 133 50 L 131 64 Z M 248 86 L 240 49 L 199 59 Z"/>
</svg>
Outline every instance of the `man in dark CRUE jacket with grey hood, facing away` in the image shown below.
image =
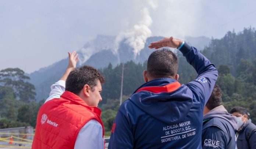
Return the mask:
<svg viewBox="0 0 256 149">
<path fill-rule="evenodd" d="M 237 119 L 221 105 L 222 92 L 215 85 L 203 109 L 203 149 L 235 149 Z"/>
</svg>

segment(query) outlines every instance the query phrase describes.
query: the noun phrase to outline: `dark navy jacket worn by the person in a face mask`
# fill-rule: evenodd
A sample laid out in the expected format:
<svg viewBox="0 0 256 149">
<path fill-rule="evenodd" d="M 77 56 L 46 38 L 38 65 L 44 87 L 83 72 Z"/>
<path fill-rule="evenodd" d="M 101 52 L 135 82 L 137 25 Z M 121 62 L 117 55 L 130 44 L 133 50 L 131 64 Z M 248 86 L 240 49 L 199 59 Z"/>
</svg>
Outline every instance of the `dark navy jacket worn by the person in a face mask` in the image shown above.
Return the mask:
<svg viewBox="0 0 256 149">
<path fill-rule="evenodd" d="M 250 119 L 237 135 L 237 149 L 256 149 L 256 126 Z"/>
</svg>

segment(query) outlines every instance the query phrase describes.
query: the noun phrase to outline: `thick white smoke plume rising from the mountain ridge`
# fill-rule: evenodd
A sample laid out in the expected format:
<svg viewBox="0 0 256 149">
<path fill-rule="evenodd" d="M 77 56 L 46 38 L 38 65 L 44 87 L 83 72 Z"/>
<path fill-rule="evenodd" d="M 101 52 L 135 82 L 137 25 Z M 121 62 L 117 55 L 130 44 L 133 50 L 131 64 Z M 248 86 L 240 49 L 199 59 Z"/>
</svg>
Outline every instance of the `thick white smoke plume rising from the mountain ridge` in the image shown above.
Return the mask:
<svg viewBox="0 0 256 149">
<path fill-rule="evenodd" d="M 134 49 L 134 56 L 136 57 L 144 48 L 146 39 L 152 36 L 152 32 L 149 29 L 149 26 L 152 24 L 149 9 L 155 9 L 158 6 L 156 0 L 134 1 L 134 4 L 138 11 L 135 13 L 136 16 L 134 16 L 137 21 L 129 29 L 118 34 L 115 40 L 115 54 L 117 54 L 120 42 L 125 40 L 125 43 Z"/>
</svg>

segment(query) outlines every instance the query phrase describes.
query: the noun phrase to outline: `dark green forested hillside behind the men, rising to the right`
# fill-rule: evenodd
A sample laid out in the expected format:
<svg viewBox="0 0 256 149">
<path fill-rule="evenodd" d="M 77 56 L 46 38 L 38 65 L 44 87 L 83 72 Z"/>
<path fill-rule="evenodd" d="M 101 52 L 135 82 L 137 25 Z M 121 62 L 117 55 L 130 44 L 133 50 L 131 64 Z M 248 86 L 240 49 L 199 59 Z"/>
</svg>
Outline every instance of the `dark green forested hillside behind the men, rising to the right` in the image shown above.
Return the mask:
<svg viewBox="0 0 256 149">
<path fill-rule="evenodd" d="M 191 45 L 193 46 L 193 45 Z M 212 39 L 202 53 L 218 69 L 217 84 L 223 91 L 223 105 L 229 111 L 234 106 L 243 106 L 250 112 L 250 118 L 256 122 L 256 31 L 245 28 L 242 32 L 228 32 L 222 39 Z M 196 72 L 181 53 L 179 59 L 179 82 L 186 84 L 196 79 Z M 124 64 L 123 100 L 127 99 L 136 88 L 144 83 L 142 72 L 146 62 L 136 65 L 133 62 Z M 103 85 L 103 121 L 106 130 L 111 129 L 119 106 L 122 65 L 101 70 L 106 77 Z"/>
</svg>

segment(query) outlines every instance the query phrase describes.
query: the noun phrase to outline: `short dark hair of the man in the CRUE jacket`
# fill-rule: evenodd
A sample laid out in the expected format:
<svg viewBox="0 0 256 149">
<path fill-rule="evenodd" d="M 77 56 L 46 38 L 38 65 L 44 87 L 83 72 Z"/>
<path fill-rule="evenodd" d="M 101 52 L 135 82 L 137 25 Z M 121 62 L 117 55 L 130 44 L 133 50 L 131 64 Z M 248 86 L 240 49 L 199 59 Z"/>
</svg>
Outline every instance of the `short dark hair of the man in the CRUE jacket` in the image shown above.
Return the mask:
<svg viewBox="0 0 256 149">
<path fill-rule="evenodd" d="M 206 103 L 206 107 L 209 110 L 212 110 L 212 109 L 216 108 L 217 106 L 220 106 L 221 105 L 221 97 L 222 97 L 222 91 L 221 91 L 220 87 L 217 84 L 215 84 L 213 87 L 213 91 L 211 92 L 211 96 Z"/>
</svg>

